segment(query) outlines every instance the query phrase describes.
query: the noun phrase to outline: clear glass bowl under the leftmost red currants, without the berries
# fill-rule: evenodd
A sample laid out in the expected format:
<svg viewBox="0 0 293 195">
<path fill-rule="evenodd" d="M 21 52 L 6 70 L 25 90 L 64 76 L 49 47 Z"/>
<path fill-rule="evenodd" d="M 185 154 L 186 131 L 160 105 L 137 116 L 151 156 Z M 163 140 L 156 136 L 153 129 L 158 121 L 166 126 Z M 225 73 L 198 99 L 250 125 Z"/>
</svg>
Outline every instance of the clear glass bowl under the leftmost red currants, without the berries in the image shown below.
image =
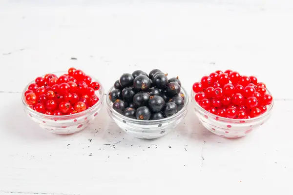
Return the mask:
<svg viewBox="0 0 293 195">
<path fill-rule="evenodd" d="M 67 72 L 55 72 L 51 74 L 55 74 L 56 76 L 61 76 L 63 74 L 66 74 Z M 44 75 L 42 76 L 44 77 Z M 79 132 L 86 128 L 86 126 L 89 124 L 90 120 L 92 120 L 94 117 L 96 117 L 103 107 L 103 100 L 104 100 L 104 88 L 101 85 L 101 82 L 99 82 L 97 79 L 92 78 L 92 81 L 97 81 L 100 84 L 100 89 L 95 91 L 95 94 L 99 97 L 99 101 L 90 107 L 89 109 L 77 113 L 74 115 L 67 115 L 67 116 L 51 116 L 51 115 L 45 115 L 39 112 L 36 112 L 35 110 L 31 109 L 25 102 L 24 92 L 27 90 L 28 86 L 31 83 L 34 83 L 35 80 L 28 83 L 28 85 L 25 86 L 22 94 L 21 99 L 23 103 L 24 112 L 36 123 L 40 125 L 41 128 L 54 133 L 54 134 L 61 134 L 61 135 L 67 135 L 67 134 L 73 134 L 76 132 Z"/>
</svg>

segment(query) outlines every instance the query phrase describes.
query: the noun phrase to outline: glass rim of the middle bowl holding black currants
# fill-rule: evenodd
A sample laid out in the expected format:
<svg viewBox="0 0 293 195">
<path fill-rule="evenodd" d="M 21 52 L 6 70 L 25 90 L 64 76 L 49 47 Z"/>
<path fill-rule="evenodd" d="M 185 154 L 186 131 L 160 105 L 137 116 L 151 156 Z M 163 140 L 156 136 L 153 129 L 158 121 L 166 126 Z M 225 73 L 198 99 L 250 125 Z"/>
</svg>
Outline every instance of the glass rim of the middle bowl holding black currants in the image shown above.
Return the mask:
<svg viewBox="0 0 293 195">
<path fill-rule="evenodd" d="M 108 94 L 114 89 L 114 86 L 110 87 L 109 91 L 108 91 Z M 176 117 L 179 117 L 181 116 L 186 110 L 187 110 L 187 107 L 188 107 L 188 103 L 189 103 L 189 95 L 187 93 L 187 91 L 185 90 L 184 87 L 181 87 L 181 90 L 184 91 L 184 94 L 185 94 L 185 100 L 184 100 L 184 106 L 183 108 L 177 112 L 175 115 L 172 115 L 171 117 L 167 117 L 167 118 L 162 118 L 162 119 L 159 119 L 159 120 L 138 120 L 138 119 L 133 119 L 133 118 L 129 118 L 129 117 L 125 117 L 124 115 L 118 113 L 116 110 L 113 109 L 113 107 L 111 106 L 111 101 L 110 99 L 107 97 L 106 98 L 106 102 L 107 102 L 107 108 L 112 112 L 112 113 L 115 113 L 116 115 L 118 115 L 118 117 L 126 120 L 126 121 L 131 121 L 131 122 L 134 122 L 134 123 L 145 123 L 145 124 L 153 124 L 153 123 L 161 123 L 161 122 L 166 122 L 166 121 L 169 121 L 171 119 L 174 119 Z M 107 95 L 106 95 L 107 96 Z"/>
</svg>

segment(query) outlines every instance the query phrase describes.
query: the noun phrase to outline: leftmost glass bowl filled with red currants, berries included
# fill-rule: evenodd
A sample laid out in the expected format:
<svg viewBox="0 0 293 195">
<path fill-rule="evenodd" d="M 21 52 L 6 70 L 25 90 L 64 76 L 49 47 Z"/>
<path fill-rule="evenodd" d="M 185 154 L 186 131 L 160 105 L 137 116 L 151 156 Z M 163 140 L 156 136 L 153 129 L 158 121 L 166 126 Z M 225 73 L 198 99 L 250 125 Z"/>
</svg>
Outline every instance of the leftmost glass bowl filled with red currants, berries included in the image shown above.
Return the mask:
<svg viewBox="0 0 293 195">
<path fill-rule="evenodd" d="M 38 77 L 22 93 L 25 113 L 41 128 L 61 135 L 83 130 L 98 115 L 103 99 L 100 82 L 75 68 Z"/>
</svg>

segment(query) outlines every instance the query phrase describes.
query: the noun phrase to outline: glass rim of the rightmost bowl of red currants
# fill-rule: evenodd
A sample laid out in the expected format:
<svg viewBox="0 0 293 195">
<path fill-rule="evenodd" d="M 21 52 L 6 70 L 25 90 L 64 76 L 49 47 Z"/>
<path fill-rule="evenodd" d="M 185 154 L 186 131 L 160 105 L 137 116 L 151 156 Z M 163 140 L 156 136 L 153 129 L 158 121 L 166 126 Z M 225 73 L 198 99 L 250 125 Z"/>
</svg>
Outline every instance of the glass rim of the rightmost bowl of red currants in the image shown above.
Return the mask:
<svg viewBox="0 0 293 195">
<path fill-rule="evenodd" d="M 266 88 L 267 92 L 272 95 L 272 93 L 268 90 L 268 88 Z M 264 114 L 261 114 L 257 117 L 253 117 L 253 118 L 245 118 L 245 119 L 235 119 L 235 118 L 227 118 L 227 117 L 220 117 L 220 116 L 217 116 L 215 114 L 212 114 L 210 112 L 208 112 L 207 110 L 205 110 L 204 108 L 202 108 L 198 103 L 197 101 L 195 101 L 194 97 L 195 97 L 195 92 L 191 89 L 191 99 L 192 99 L 192 102 L 195 103 L 196 107 L 198 108 L 198 110 L 202 111 L 203 113 L 209 115 L 209 116 L 212 116 L 212 117 L 217 117 L 219 120 L 229 120 L 229 121 L 232 121 L 232 122 L 250 122 L 250 121 L 254 121 L 254 120 L 257 120 L 257 119 L 260 119 L 262 117 L 266 117 L 267 115 L 269 115 L 269 113 L 271 112 L 272 110 L 272 107 L 273 107 L 273 104 L 274 104 L 274 98 L 272 99 L 272 103 L 269 105 L 268 107 L 268 110 L 267 112 L 265 112 Z"/>
</svg>

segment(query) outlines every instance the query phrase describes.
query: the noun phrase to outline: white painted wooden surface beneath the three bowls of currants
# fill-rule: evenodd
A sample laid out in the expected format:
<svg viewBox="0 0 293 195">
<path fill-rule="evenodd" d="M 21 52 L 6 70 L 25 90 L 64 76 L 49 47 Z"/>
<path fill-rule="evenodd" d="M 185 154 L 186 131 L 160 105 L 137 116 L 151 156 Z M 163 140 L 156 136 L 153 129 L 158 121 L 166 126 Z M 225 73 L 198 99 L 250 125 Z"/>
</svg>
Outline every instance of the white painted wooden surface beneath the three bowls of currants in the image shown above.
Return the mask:
<svg viewBox="0 0 293 195">
<path fill-rule="evenodd" d="M 292 194 L 292 19 L 290 0 L 1 1 L 0 194 Z M 140 140 L 105 107 L 87 130 L 53 135 L 24 115 L 21 91 L 71 66 L 106 90 L 136 69 L 179 75 L 190 90 L 230 68 L 266 82 L 275 105 L 239 139 L 212 135 L 190 109 L 166 137 Z"/>
</svg>

